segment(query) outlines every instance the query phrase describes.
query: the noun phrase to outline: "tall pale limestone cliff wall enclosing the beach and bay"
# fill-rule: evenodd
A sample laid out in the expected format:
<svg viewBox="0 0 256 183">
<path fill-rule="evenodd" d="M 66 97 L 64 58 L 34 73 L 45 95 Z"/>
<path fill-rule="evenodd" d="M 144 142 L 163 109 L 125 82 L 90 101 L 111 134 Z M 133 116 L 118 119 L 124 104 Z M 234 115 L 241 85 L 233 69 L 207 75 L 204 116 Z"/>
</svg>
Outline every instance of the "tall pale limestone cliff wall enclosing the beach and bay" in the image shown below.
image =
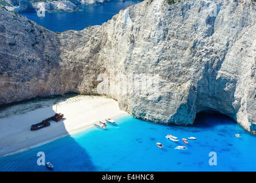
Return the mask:
<svg viewBox="0 0 256 183">
<path fill-rule="evenodd" d="M 100 93 L 136 118 L 190 125 L 196 113 L 215 110 L 256 133 L 256 5 L 250 0 L 146 0 L 102 26 L 59 35 L 5 10 L 0 15 L 2 104 Z M 157 75 L 159 92 L 136 92 L 136 85 L 125 94 L 100 91 L 99 74 Z M 118 80 L 110 79 L 110 90 Z"/>
</svg>

